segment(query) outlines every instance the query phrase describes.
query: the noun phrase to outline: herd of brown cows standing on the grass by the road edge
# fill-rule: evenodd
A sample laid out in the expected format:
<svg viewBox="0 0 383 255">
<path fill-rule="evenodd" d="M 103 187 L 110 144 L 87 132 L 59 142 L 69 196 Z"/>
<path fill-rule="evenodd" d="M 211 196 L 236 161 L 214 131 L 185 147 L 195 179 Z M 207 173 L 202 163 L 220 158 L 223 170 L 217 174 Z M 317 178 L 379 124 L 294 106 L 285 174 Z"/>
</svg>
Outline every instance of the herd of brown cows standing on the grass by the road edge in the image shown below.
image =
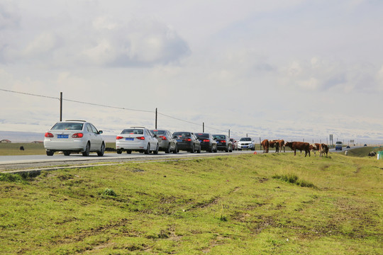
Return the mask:
<svg viewBox="0 0 383 255">
<path fill-rule="evenodd" d="M 311 156 L 310 151 L 314 152 L 316 155 L 316 151 L 319 151 L 319 156 L 322 157 L 324 154 L 326 154 L 326 157 L 328 156 L 328 146 L 323 143 L 313 143 L 309 144 L 309 142 L 284 142 L 284 140 L 263 140 L 261 142 L 261 145 L 263 147 L 263 153 L 269 153 L 269 148 L 275 148 L 275 152 L 283 152 L 285 151 L 285 147 L 290 147 L 292 150 L 294 150 L 294 156 L 296 155 L 296 150 L 304 151 L 304 157 L 309 154 L 309 157 Z"/>
</svg>

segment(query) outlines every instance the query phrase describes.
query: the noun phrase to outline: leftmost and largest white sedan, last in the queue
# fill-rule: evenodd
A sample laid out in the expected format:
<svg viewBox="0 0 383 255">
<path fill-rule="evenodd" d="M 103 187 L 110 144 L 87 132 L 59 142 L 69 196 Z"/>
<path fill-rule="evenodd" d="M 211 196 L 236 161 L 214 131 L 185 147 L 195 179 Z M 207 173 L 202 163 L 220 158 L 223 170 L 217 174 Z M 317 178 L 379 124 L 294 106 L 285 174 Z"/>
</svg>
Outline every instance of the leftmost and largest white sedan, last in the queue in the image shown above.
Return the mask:
<svg viewBox="0 0 383 255">
<path fill-rule="evenodd" d="M 45 132 L 45 152 L 47 156 L 53 156 L 55 152 L 63 152 L 65 156 L 81 152 L 85 157 L 90 152 L 97 152 L 101 157 L 105 152 L 105 142 L 101 134 L 102 130 L 97 130 L 85 120 L 60 121 Z"/>
</svg>

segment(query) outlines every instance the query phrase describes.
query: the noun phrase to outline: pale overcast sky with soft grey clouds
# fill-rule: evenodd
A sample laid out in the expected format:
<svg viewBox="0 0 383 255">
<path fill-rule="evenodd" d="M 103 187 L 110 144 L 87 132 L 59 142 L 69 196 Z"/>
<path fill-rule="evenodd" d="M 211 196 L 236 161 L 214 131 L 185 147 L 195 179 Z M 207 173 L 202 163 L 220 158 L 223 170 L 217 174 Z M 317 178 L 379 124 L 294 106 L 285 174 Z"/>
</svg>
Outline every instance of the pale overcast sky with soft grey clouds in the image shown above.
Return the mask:
<svg viewBox="0 0 383 255">
<path fill-rule="evenodd" d="M 382 13 L 379 0 L 0 0 L 0 130 L 44 133 L 62 92 L 63 119 L 106 135 L 154 128 L 157 108 L 171 131 L 383 142 Z"/>
</svg>

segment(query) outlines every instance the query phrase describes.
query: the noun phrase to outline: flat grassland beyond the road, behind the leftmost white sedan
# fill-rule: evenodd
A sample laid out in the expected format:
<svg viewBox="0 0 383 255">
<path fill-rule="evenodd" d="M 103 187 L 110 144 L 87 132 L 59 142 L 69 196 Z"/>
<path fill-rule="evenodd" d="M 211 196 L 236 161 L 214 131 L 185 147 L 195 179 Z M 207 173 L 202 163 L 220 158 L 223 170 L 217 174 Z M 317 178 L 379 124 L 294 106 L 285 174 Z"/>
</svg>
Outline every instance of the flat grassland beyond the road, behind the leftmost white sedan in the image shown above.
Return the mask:
<svg viewBox="0 0 383 255">
<path fill-rule="evenodd" d="M 23 146 L 24 150 L 20 150 Z M 116 148 L 116 143 L 106 142 L 106 147 Z M 106 152 L 108 153 L 108 152 Z M 10 155 L 43 155 L 45 154 L 44 144 L 35 144 L 30 142 L 20 143 L 0 143 L 0 156 Z"/>
</svg>

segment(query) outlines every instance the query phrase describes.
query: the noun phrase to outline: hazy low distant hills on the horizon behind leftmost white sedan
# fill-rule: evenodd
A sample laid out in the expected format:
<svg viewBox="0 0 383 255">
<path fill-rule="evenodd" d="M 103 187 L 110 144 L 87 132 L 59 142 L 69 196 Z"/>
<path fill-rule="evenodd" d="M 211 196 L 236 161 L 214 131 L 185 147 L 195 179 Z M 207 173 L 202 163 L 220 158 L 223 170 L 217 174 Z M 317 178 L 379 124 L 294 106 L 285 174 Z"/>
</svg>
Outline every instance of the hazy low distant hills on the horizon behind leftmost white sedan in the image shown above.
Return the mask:
<svg viewBox="0 0 383 255">
<path fill-rule="evenodd" d="M 106 142 L 116 142 L 115 135 L 103 135 L 103 137 Z M 44 133 L 0 131 L 0 140 L 4 139 L 11 140 L 11 142 L 43 141 Z"/>
</svg>

